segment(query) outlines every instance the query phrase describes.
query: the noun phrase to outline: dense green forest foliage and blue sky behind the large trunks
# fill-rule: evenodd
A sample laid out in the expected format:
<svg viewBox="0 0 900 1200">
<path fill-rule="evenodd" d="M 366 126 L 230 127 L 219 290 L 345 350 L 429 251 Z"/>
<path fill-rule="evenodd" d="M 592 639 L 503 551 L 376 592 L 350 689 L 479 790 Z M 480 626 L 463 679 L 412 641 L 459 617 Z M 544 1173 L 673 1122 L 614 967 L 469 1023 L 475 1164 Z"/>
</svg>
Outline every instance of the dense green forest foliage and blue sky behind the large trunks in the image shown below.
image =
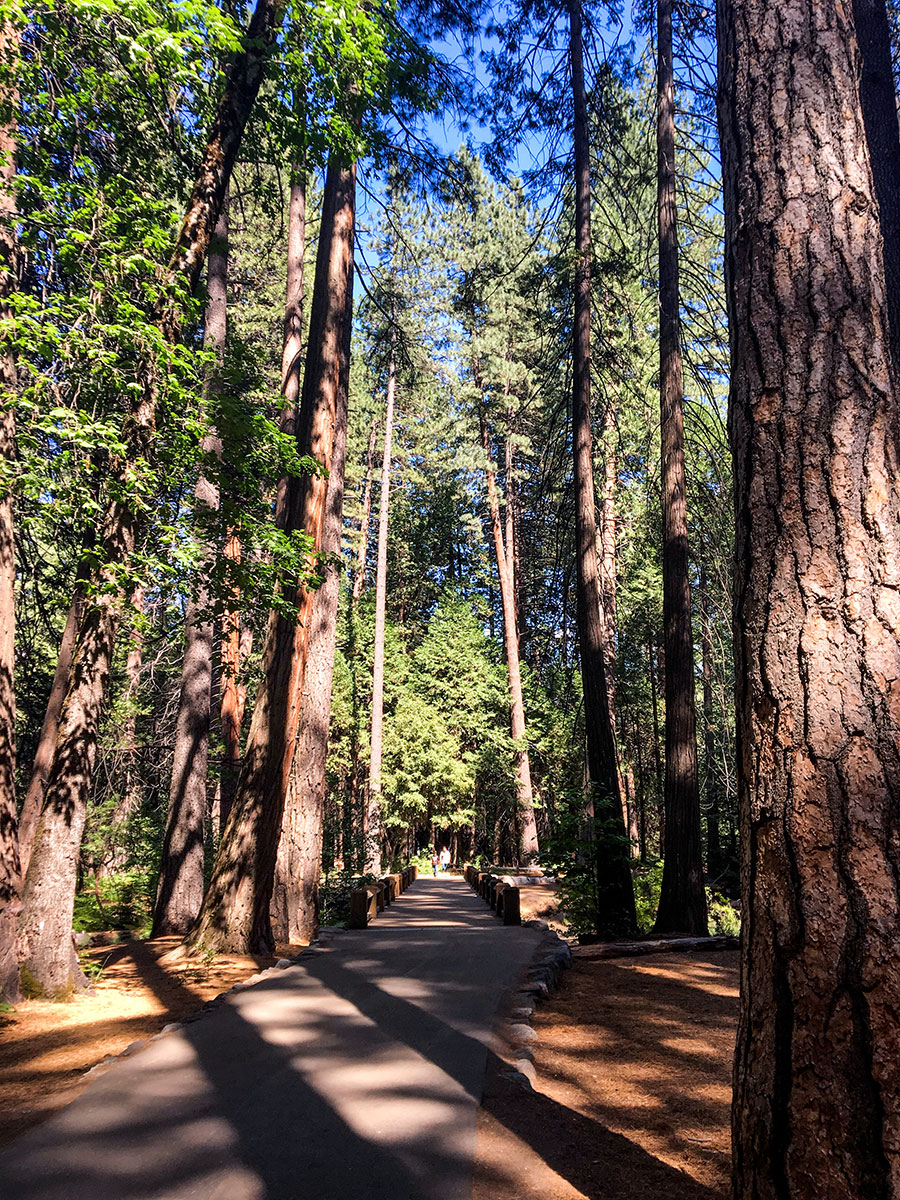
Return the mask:
<svg viewBox="0 0 900 1200">
<path fill-rule="evenodd" d="M 26 19 L 20 58 L 7 64 L 18 90 L 16 740 L 26 823 L 26 797 L 34 804 L 35 785 L 37 796 L 42 787 L 30 764 L 37 760 L 40 770 L 72 598 L 79 602 L 79 592 L 96 587 L 89 572 L 103 559 L 97 529 L 122 406 L 139 386 L 137 364 L 148 353 L 160 389 L 152 450 L 128 482 L 143 521 L 127 562 L 115 568 L 126 600 L 78 848 L 77 919 L 149 928 L 184 706 L 186 622 L 203 625 L 210 643 L 209 874 L 223 779 L 236 770 L 246 738 L 278 581 L 308 570 L 302 534 L 274 520 L 278 480 L 302 469 L 283 419 L 289 209 L 292 180 L 300 180 L 306 338 L 323 169 L 341 139 L 355 139 L 361 158 L 323 869 L 342 884 L 364 875 L 373 841 L 385 865 L 445 844 L 457 862 L 518 862 L 524 743 L 540 860 L 568 866 L 575 878 L 587 836 L 586 731 L 563 14 L 494 12 L 473 70 L 416 44 L 413 14 L 384 12 L 366 30 L 364 10 L 292 12 L 293 31 L 277 47 L 228 188 L 220 230 L 227 332 L 212 344 L 208 280 L 196 301 L 184 300 L 184 332 L 173 346 L 160 338 L 154 288 L 202 154 L 217 62 L 233 52 L 240 23 L 206 5 L 113 12 L 94 2 L 13 19 Z M 533 44 L 516 58 L 509 40 L 522 19 Z M 704 854 L 709 886 L 734 896 L 727 336 L 704 20 L 708 14 L 683 8 L 676 30 L 686 510 Z M 648 18 L 636 13 L 635 22 L 626 37 L 612 13 L 588 14 L 598 281 L 590 382 L 611 712 L 648 926 L 664 853 L 666 665 L 655 80 Z M 473 30 L 458 13 L 450 24 L 446 36 L 470 44 Z M 331 52 L 343 56 L 340 70 Z M 355 126 L 343 107 L 352 70 L 380 89 Z M 463 140 L 460 133 L 460 149 L 448 152 L 463 106 L 480 112 L 478 134 Z M 443 121 L 437 142 L 436 119 Z M 509 173 L 512 158 L 517 175 Z M 380 826 L 373 833 L 376 559 L 388 500 Z M 526 720 L 517 739 L 492 503 L 517 623 Z M 588 931 L 577 895 L 572 920 Z"/>
</svg>

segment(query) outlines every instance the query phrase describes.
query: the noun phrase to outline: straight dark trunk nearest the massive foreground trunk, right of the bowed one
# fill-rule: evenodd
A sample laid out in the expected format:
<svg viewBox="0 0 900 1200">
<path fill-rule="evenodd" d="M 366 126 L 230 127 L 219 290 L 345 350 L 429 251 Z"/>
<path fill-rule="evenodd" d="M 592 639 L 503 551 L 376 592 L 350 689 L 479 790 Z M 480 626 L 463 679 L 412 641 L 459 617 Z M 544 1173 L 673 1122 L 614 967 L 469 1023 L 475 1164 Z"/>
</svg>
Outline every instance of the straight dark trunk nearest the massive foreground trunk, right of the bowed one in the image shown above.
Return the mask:
<svg viewBox="0 0 900 1200">
<path fill-rule="evenodd" d="M 654 930 L 706 936 L 707 894 L 694 707 L 688 503 L 678 288 L 674 163 L 673 0 L 656 0 L 656 167 L 659 186 L 659 368 L 662 492 L 662 628 L 666 647 L 666 840 Z"/>
</svg>

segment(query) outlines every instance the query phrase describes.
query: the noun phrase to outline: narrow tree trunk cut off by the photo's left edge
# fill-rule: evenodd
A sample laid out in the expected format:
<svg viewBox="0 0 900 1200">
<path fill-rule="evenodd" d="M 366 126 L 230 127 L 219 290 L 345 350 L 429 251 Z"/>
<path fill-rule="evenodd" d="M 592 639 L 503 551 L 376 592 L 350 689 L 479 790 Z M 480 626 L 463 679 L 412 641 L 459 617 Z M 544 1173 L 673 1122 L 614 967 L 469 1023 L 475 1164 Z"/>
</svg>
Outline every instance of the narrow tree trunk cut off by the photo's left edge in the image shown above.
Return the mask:
<svg viewBox="0 0 900 1200">
<path fill-rule="evenodd" d="M 18 78 L 19 31 L 6 19 L 0 28 L 0 60 L 10 78 Z M 18 91 L 4 97 L 6 122 L 0 130 L 0 319 L 13 314 L 10 295 L 16 288 L 16 124 Z M 22 869 L 16 822 L 16 538 L 13 492 L 16 462 L 16 359 L 11 341 L 0 346 L 0 1000 L 19 998 L 16 962 Z"/>
</svg>

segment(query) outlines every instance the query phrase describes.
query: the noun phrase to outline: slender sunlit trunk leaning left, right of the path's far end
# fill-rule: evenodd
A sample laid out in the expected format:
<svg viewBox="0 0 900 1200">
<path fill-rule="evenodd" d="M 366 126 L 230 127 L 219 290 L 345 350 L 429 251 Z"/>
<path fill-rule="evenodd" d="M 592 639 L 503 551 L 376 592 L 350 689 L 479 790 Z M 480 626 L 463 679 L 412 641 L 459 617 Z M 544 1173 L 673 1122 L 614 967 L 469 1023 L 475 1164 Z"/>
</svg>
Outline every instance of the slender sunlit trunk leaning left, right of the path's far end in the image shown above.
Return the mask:
<svg viewBox="0 0 900 1200">
<path fill-rule="evenodd" d="M 512 546 L 509 542 L 504 545 L 503 524 L 500 523 L 500 500 L 497 494 L 497 478 L 491 466 L 491 442 L 487 434 L 484 407 L 479 408 L 479 422 L 481 426 L 481 446 L 485 451 L 487 506 L 491 512 L 493 548 L 497 558 L 497 577 L 500 581 L 500 602 L 503 604 L 503 642 L 506 650 L 506 671 L 509 676 L 510 731 L 517 746 L 516 806 L 518 812 L 518 853 L 522 863 L 527 865 L 528 863 L 533 863 L 538 857 L 539 847 L 538 822 L 534 818 L 534 797 L 532 794 L 532 768 L 528 760 L 524 703 L 522 700 L 522 672 L 518 661 L 516 596 L 512 582 Z M 508 536 L 510 532 L 510 523 L 508 523 Z"/>
</svg>

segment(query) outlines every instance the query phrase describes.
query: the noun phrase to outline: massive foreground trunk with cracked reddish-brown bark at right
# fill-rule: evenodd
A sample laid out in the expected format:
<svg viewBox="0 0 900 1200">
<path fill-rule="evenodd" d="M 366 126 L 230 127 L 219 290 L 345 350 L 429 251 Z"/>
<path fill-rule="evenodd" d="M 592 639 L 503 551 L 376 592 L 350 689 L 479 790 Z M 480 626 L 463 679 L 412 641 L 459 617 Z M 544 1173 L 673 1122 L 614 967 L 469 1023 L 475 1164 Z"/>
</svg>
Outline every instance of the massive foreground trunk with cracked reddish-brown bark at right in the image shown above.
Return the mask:
<svg viewBox="0 0 900 1200">
<path fill-rule="evenodd" d="M 900 421 L 847 7 L 720 0 L 736 1200 L 900 1196 Z"/>
</svg>

